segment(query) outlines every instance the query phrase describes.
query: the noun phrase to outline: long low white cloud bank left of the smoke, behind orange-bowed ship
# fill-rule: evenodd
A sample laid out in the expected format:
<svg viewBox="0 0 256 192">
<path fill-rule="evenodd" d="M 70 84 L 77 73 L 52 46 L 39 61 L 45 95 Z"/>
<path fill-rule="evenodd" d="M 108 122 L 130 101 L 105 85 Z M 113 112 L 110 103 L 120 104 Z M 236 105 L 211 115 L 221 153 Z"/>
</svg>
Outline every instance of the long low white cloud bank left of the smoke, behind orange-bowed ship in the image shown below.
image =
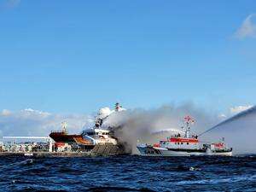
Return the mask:
<svg viewBox="0 0 256 192">
<path fill-rule="evenodd" d="M 59 114 L 26 108 L 19 112 L 4 109 L 0 113 L 1 136 L 48 136 L 50 131 L 61 130 L 61 122 L 67 121 L 70 133 L 80 133 L 90 126 L 93 118 L 84 114 Z"/>
</svg>

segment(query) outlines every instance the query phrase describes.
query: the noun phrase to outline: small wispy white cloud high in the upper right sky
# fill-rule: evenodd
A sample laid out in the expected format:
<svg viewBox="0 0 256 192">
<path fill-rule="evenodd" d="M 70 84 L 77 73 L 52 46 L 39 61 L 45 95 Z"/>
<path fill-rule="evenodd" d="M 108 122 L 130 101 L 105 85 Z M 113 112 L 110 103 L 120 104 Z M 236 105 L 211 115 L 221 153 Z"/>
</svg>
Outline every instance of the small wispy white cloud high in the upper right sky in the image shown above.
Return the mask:
<svg viewBox="0 0 256 192">
<path fill-rule="evenodd" d="M 253 22 L 255 17 L 256 14 L 251 14 L 243 20 L 240 28 L 236 31 L 236 38 L 256 38 L 256 22 Z"/>
</svg>

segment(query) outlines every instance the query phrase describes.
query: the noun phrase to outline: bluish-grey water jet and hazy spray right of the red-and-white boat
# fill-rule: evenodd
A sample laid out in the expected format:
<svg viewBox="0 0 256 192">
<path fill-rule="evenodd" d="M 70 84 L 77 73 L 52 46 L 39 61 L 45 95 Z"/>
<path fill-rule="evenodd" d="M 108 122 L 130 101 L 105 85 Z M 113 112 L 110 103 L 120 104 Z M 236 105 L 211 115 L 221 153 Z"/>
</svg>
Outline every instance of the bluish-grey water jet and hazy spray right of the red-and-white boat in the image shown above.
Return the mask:
<svg viewBox="0 0 256 192">
<path fill-rule="evenodd" d="M 256 106 L 226 119 L 210 130 L 205 131 L 203 138 L 216 140 L 225 137 L 226 143 L 234 148 L 234 154 L 256 153 Z"/>
</svg>

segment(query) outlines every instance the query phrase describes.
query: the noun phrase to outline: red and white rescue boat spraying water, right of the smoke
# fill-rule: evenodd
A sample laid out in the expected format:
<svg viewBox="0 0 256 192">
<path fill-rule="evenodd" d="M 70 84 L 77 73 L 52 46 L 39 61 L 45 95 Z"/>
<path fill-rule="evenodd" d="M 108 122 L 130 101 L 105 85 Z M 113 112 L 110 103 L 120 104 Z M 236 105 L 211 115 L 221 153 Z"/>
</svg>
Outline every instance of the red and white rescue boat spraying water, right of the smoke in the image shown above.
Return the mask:
<svg viewBox="0 0 256 192">
<path fill-rule="evenodd" d="M 178 133 L 166 140 L 148 145 L 141 143 L 137 149 L 144 156 L 191 156 L 191 155 L 222 155 L 232 156 L 232 148 L 228 148 L 224 139 L 219 143 L 200 142 L 197 136 L 190 136 L 190 124 L 194 119 L 184 118 L 185 127 L 182 134 Z"/>
</svg>

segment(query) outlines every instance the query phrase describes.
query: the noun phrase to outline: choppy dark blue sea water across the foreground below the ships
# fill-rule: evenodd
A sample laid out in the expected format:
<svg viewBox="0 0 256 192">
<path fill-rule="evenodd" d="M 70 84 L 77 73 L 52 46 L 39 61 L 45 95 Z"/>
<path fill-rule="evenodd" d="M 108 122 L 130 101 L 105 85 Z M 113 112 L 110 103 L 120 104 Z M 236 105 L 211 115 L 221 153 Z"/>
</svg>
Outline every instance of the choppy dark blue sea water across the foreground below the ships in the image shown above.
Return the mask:
<svg viewBox="0 0 256 192">
<path fill-rule="evenodd" d="M 256 191 L 256 156 L 0 158 L 1 191 Z"/>
</svg>

